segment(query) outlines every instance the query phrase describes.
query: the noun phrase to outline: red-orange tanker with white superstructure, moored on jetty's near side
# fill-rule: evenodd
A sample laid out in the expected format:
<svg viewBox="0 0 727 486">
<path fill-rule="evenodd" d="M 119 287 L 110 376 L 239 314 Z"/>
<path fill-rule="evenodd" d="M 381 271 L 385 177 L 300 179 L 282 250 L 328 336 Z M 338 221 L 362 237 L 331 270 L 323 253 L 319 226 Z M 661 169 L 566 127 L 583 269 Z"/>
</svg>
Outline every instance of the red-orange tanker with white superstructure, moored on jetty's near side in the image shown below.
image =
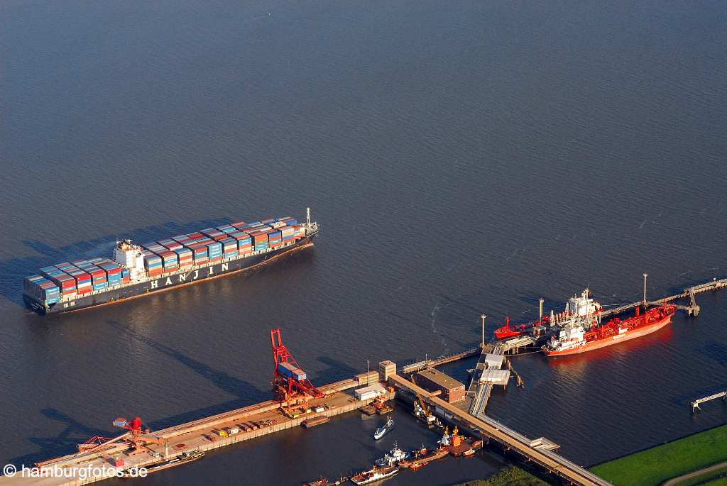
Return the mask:
<svg viewBox="0 0 727 486">
<path fill-rule="evenodd" d="M 664 304 L 640 314 L 621 320 L 618 317 L 605 324 L 598 323 L 597 317 L 590 315 L 568 325 L 563 325 L 556 335 L 542 347 L 546 356 L 577 355 L 629 339 L 659 331 L 672 320 L 675 305 Z"/>
</svg>

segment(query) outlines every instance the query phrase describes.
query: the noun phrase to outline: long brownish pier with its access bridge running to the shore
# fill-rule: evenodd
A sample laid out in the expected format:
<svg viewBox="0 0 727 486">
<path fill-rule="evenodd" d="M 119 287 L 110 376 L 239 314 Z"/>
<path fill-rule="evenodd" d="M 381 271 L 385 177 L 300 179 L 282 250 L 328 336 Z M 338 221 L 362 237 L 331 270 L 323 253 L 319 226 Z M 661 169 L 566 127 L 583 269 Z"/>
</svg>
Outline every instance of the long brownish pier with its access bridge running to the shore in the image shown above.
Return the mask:
<svg viewBox="0 0 727 486">
<path fill-rule="evenodd" d="M 407 365 L 401 368 L 400 371 L 402 373 L 413 373 L 417 369 L 431 368 L 435 363 L 452 363 L 476 355 L 478 352 L 481 355 L 478 361 L 478 369 L 481 370 L 481 373 L 473 377 L 473 381 L 478 383 L 475 398 L 479 402 L 474 407 L 477 416 L 442 400 L 438 397 L 438 392 L 427 392 L 427 390 L 413 384 L 406 378 L 402 378 L 395 373 L 395 363 L 390 361 L 379 363 L 379 378 L 376 381 L 381 385 L 390 386 L 385 389 L 386 400 L 391 400 L 394 397 L 395 392 L 391 391 L 394 389 L 392 387 L 414 394 L 419 393 L 422 399 L 440 412 L 446 421 L 454 421 L 467 429 L 473 430 L 486 442 L 499 442 L 505 450 L 513 450 L 519 453 L 526 461 L 539 464 L 547 473 L 567 479 L 572 485 L 608 486 L 610 483 L 554 453 L 553 451 L 558 448 L 555 442 L 547 440 L 545 437 L 531 440 L 484 414 L 484 407 L 491 392 L 491 386 L 497 380 L 483 381 L 482 372 L 488 370 L 500 371 L 503 375 L 501 381 L 499 381 L 500 384 L 503 384 L 502 378 L 504 378 L 505 374 L 509 377 L 509 371 L 499 369 L 505 357 L 498 347 L 488 344 L 486 347 L 467 349 L 465 352 L 454 355 Z M 393 371 L 393 373 L 389 373 L 387 370 Z M 366 374 L 362 373 L 354 378 L 318 387 L 323 396 L 308 400 L 306 406 L 310 411 L 309 413 L 302 413 L 300 416 L 288 416 L 281 408 L 282 403 L 279 400 L 268 400 L 267 402 L 200 418 L 166 429 L 144 432 L 135 439 L 144 442 L 141 447 L 131 447 L 129 445 L 130 433 L 128 432 L 113 439 L 95 437 L 94 441 L 79 445 L 79 452 L 77 453 L 42 461 L 37 463 L 36 466 L 41 470 L 57 468 L 60 468 L 61 471 L 70 471 L 71 468 L 96 468 L 100 470 L 103 467 L 110 468 L 113 463 L 122 463 L 124 469 L 130 469 L 132 467 L 152 466 L 159 461 L 159 458 L 173 458 L 185 452 L 228 447 L 255 437 L 302 426 L 304 421 L 310 421 L 312 418 L 337 416 L 371 404 L 373 399 L 357 400 L 348 391 L 369 385 L 368 380 L 372 373 L 376 376 L 376 372 L 372 371 Z M 362 382 L 361 380 L 364 377 L 366 381 Z M 506 382 L 507 380 L 504 381 L 504 383 Z M 470 388 L 472 386 L 470 382 Z M 238 432 L 231 432 L 233 430 Z M 23 478 L 17 475 L 15 477 L 0 477 L 0 485 L 77 486 L 102 481 L 103 479 L 108 479 L 108 476 L 91 474 L 89 477 L 84 478 L 69 477 L 68 475 L 65 477 L 62 475 L 61 477 Z"/>
</svg>

